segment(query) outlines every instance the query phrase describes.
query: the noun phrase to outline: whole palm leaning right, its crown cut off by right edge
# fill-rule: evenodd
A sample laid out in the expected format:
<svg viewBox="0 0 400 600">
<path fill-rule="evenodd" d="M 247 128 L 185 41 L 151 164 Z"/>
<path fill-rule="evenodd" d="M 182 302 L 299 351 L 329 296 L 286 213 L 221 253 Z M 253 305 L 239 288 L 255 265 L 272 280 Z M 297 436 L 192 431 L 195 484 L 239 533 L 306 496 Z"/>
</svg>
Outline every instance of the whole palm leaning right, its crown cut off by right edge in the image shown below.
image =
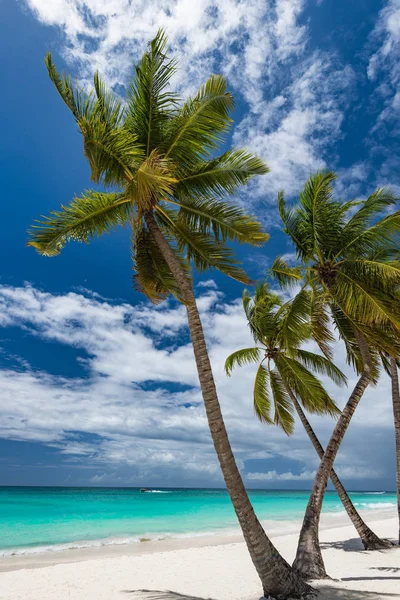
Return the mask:
<svg viewBox="0 0 400 600">
<path fill-rule="evenodd" d="M 300 533 L 294 567 L 310 579 L 326 577 L 318 537 L 322 502 L 351 417 L 376 379 L 370 347 L 393 353 L 391 339 L 380 326 L 388 322 L 399 326 L 398 305 L 391 291 L 400 282 L 400 263 L 374 255 L 377 248 L 391 244 L 399 231 L 400 212 L 388 210 L 397 199 L 379 188 L 365 201 L 337 201 L 333 198 L 334 179 L 333 173 L 311 176 L 292 208 L 286 206 L 283 193 L 279 194 L 284 231 L 295 246 L 300 265 L 289 267 L 278 257 L 271 269 L 282 285 L 300 282 L 301 296 L 307 294 L 307 288 L 318 291 L 310 303 L 314 339 L 329 356 L 326 335 L 332 318 L 348 359 L 360 374 L 325 449 Z M 385 216 L 383 211 L 387 211 Z"/>
</svg>

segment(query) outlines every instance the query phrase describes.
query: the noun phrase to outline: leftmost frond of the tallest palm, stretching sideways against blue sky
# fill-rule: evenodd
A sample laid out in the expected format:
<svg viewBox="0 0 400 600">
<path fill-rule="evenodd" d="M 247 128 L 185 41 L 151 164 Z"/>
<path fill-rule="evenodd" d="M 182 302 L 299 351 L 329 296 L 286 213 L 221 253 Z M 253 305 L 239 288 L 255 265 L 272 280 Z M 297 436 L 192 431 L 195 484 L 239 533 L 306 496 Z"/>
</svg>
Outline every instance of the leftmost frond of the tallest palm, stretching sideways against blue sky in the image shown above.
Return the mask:
<svg viewBox="0 0 400 600">
<path fill-rule="evenodd" d="M 95 236 L 124 225 L 132 214 L 132 204 L 124 194 L 105 194 L 87 190 L 60 211 L 37 221 L 30 231 L 28 246 L 45 256 L 60 253 L 66 242 L 89 242 Z"/>
</svg>

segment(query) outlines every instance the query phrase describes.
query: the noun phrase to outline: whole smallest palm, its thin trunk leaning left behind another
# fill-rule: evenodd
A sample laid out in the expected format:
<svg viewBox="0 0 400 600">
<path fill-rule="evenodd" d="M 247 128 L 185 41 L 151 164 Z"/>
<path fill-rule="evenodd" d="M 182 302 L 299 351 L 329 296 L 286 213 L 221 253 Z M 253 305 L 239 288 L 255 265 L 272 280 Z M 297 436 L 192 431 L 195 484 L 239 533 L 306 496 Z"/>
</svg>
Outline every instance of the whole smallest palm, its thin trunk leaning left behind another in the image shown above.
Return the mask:
<svg viewBox="0 0 400 600">
<path fill-rule="evenodd" d="M 256 415 L 261 421 L 274 423 L 291 435 L 294 408 L 322 459 L 324 449 L 303 408 L 311 413 L 331 416 L 340 411 L 312 371 L 327 375 L 338 385 L 344 384 L 346 378 L 329 358 L 301 349 L 301 345 L 310 339 L 311 331 L 307 311 L 298 300 L 299 296 L 283 305 L 281 298 L 272 294 L 265 283 L 257 286 L 254 299 L 245 291 L 243 308 L 254 341 L 259 346 L 231 354 L 226 359 L 225 370 L 230 375 L 236 365 L 258 363 L 253 392 Z M 274 368 L 271 368 L 272 364 Z M 333 469 L 330 477 L 364 548 L 376 547 L 379 538 L 361 518 Z"/>
</svg>

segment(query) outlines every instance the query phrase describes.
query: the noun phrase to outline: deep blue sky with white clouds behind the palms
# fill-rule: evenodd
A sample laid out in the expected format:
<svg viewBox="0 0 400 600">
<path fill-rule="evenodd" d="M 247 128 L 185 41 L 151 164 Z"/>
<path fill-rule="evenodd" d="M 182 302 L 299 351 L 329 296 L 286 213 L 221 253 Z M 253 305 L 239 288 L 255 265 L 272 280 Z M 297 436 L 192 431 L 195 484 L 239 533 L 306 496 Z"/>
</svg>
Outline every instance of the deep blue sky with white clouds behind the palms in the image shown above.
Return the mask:
<svg viewBox="0 0 400 600">
<path fill-rule="evenodd" d="M 400 2 L 0 0 L 0 11 L 0 484 L 219 486 L 184 311 L 151 307 L 133 291 L 129 232 L 71 244 L 56 259 L 25 245 L 35 218 L 90 187 L 80 134 L 44 54 L 88 84 L 99 69 L 123 94 L 162 26 L 182 95 L 225 73 L 236 97 L 228 143 L 271 168 L 238 198 L 271 234 L 262 250 L 238 248 L 261 277 L 277 253 L 292 252 L 279 232 L 278 190 L 295 198 L 310 172 L 330 168 L 343 198 L 377 185 L 400 193 Z M 310 487 L 317 462 L 300 427 L 288 439 L 261 426 L 253 371 L 222 372 L 227 354 L 249 341 L 241 286 L 215 273 L 196 283 L 246 484 Z M 339 345 L 336 360 L 346 368 Z M 330 391 L 344 403 L 346 390 Z M 326 440 L 333 424 L 313 422 Z M 338 471 L 352 488 L 394 488 L 393 453 L 383 378 L 363 399 Z"/>
</svg>

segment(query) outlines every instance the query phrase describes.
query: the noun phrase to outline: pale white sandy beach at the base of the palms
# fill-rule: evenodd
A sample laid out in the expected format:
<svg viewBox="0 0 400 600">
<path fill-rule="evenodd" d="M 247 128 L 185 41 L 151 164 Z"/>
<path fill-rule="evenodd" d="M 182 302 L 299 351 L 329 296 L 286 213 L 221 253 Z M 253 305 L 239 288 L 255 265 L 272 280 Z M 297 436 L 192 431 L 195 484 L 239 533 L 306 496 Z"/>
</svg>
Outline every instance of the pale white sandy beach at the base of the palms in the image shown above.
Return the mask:
<svg viewBox="0 0 400 600">
<path fill-rule="evenodd" d="M 394 538 L 394 511 L 367 513 L 379 535 Z M 346 517 L 324 517 L 321 543 L 333 578 L 320 600 L 400 600 L 400 548 L 362 550 Z M 272 535 L 292 561 L 299 524 Z M 2 600 L 258 600 L 260 583 L 238 536 L 164 540 L 0 559 Z M 147 591 L 146 591 L 147 590 Z"/>
</svg>

